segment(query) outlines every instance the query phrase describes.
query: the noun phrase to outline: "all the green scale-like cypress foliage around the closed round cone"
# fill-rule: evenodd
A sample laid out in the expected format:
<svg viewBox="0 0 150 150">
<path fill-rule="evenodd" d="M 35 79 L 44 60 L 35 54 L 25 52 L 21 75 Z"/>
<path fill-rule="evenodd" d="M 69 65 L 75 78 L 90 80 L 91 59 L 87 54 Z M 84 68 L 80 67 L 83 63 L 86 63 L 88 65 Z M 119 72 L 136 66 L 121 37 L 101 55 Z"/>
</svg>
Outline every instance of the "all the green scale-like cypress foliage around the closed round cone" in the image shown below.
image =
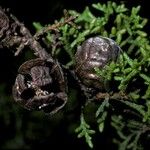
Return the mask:
<svg viewBox="0 0 150 150">
<path fill-rule="evenodd" d="M 139 11 L 140 6 L 129 10 L 124 4 L 118 5 L 110 1 L 105 4 L 93 4 L 92 9 L 87 6 L 82 13 L 70 10 L 70 15 L 77 16 L 75 26 L 70 24 L 61 26 L 58 38 L 61 46 L 52 48 L 52 54 L 59 55 L 64 52 L 69 56 L 67 62 L 63 63 L 69 68 L 74 65 L 77 47 L 90 36 L 106 36 L 120 45 L 122 51 L 116 63 L 110 62 L 101 70 L 95 68 L 98 76 L 105 81 L 113 80 L 116 85 L 116 90 L 111 89 L 111 93 L 107 93 L 110 96 L 101 102 L 95 117 L 99 131 L 103 132 L 108 110 L 113 110 L 110 124 L 119 136 L 118 139 L 113 139 L 119 150 L 142 149 L 139 146 L 141 135 L 150 130 L 150 43 L 143 29 L 147 19 L 142 18 Z M 34 26 L 37 30 L 41 29 L 38 23 L 34 23 Z M 53 36 L 52 31 L 47 33 L 49 44 L 52 44 Z M 119 116 L 116 115 L 118 112 L 118 108 L 114 106 L 116 100 L 111 99 L 111 94 L 116 91 L 125 93 L 126 100 L 124 98 L 116 100 L 119 105 L 123 105 L 123 111 L 128 110 L 135 115 L 132 119 L 128 117 L 126 120 L 123 119 L 122 110 Z M 95 131 L 85 122 L 83 114 L 76 132 L 79 138 L 85 137 L 89 147 L 93 148 L 91 134 Z"/>
</svg>

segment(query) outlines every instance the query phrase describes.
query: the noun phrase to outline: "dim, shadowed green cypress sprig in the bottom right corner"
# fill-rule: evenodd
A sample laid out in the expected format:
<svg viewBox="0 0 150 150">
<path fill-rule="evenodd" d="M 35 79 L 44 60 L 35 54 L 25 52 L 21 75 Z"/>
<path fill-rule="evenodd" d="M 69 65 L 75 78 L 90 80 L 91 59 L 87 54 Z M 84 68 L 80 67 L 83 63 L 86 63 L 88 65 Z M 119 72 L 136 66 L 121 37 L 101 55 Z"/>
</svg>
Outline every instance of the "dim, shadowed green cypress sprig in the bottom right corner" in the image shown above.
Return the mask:
<svg viewBox="0 0 150 150">
<path fill-rule="evenodd" d="M 147 127 L 143 123 L 139 123 L 135 120 L 125 120 L 122 116 L 112 116 L 112 126 L 116 129 L 118 135 L 120 136 L 120 141 L 114 139 L 115 142 L 119 142 L 119 150 L 133 149 L 141 150 L 143 149 L 139 143 L 141 135 L 146 132 Z M 125 129 L 130 129 L 127 133 Z"/>
</svg>

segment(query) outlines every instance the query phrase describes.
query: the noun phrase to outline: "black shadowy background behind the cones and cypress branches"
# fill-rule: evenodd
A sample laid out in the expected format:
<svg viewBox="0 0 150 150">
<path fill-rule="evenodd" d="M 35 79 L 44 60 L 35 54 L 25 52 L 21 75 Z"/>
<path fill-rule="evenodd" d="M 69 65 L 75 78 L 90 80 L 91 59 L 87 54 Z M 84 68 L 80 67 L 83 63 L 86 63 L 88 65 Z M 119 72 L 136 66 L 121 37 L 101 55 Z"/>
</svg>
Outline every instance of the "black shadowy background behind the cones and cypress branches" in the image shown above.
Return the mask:
<svg viewBox="0 0 150 150">
<path fill-rule="evenodd" d="M 0 5 L 2 8 L 10 8 L 11 12 L 34 33 L 32 22 L 52 24 L 54 20 L 59 20 L 63 16 L 64 9 L 82 12 L 85 6 L 96 2 L 106 0 L 0 0 Z M 150 18 L 148 1 L 123 2 L 128 8 L 140 5 L 141 16 Z M 150 23 L 145 28 L 147 33 L 150 30 L 149 25 Z M 88 149 L 85 141 L 77 139 L 74 133 L 74 129 L 79 125 L 77 112 L 69 114 L 62 110 L 50 117 L 41 112 L 28 112 L 14 103 L 11 88 L 24 55 L 14 57 L 9 50 L 0 49 L 0 149 Z M 74 104 L 76 105 L 76 102 L 72 105 Z M 65 109 L 71 111 L 72 105 L 67 104 Z M 110 142 L 113 132 L 109 126 L 107 128 L 105 134 L 98 133 L 94 137 L 95 149 L 116 149 Z"/>
</svg>

